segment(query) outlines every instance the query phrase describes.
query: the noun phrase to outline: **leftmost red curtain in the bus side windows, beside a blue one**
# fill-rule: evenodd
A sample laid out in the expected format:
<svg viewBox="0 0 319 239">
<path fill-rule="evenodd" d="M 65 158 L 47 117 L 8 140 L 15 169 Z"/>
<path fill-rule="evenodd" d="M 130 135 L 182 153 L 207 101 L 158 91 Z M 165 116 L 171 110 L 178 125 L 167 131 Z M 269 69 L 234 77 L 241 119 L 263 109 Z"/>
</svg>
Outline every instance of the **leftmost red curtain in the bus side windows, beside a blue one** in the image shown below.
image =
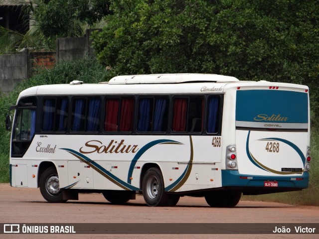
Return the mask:
<svg viewBox="0 0 319 239">
<path fill-rule="evenodd" d="M 105 104 L 105 131 L 117 131 L 118 130 L 118 115 L 119 115 L 119 99 L 108 99 Z"/>
</svg>

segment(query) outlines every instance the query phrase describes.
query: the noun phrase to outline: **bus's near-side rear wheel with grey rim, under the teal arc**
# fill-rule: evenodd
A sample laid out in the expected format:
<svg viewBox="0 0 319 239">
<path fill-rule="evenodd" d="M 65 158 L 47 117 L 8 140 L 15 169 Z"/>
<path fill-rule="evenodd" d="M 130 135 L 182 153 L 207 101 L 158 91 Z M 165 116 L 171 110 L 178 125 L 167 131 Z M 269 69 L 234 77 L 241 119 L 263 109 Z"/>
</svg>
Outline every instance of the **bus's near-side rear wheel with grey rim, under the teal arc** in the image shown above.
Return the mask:
<svg viewBox="0 0 319 239">
<path fill-rule="evenodd" d="M 150 168 L 146 171 L 143 177 L 142 191 L 147 205 L 151 207 L 168 206 L 170 197 L 164 191 L 164 181 L 160 169 Z M 171 204 L 174 203 L 174 201 L 171 202 Z"/>
</svg>

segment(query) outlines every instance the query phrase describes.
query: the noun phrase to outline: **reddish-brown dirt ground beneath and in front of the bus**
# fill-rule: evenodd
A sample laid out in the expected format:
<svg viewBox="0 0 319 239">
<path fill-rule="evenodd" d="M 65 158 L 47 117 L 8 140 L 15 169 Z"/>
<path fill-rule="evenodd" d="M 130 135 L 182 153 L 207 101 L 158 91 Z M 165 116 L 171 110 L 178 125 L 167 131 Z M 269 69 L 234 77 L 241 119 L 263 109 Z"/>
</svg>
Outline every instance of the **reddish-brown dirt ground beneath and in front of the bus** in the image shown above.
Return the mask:
<svg viewBox="0 0 319 239">
<path fill-rule="evenodd" d="M 319 207 L 292 206 L 288 204 L 240 201 L 235 208 L 211 208 L 204 198 L 182 197 L 175 207 L 148 207 L 143 196 L 137 195 L 124 205 L 113 205 L 106 201 L 102 194 L 80 194 L 78 201 L 70 200 L 64 204 L 47 203 L 36 188 L 13 188 L 8 184 L 0 184 L 0 224 L 29 223 L 232 223 L 284 224 L 302 223 L 318 224 Z M 319 238 L 316 234 L 303 235 L 201 235 L 201 234 L 120 234 L 120 235 L 7 235 L 0 234 L 0 239 L 86 239 L 86 238 Z"/>
</svg>

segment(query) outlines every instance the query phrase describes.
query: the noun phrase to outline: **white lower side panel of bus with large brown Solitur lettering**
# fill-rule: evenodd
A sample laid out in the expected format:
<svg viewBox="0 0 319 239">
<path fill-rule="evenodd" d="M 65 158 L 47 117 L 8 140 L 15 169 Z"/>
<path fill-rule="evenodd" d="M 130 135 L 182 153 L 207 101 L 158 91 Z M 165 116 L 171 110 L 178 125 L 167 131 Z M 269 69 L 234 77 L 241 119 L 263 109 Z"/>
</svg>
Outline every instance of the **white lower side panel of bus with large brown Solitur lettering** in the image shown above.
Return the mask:
<svg viewBox="0 0 319 239">
<path fill-rule="evenodd" d="M 24 155 L 34 164 L 54 162 L 61 188 L 140 190 L 146 163 L 159 165 L 170 192 L 221 186 L 222 142 L 212 143 L 213 135 L 63 137 L 36 134 Z"/>
</svg>

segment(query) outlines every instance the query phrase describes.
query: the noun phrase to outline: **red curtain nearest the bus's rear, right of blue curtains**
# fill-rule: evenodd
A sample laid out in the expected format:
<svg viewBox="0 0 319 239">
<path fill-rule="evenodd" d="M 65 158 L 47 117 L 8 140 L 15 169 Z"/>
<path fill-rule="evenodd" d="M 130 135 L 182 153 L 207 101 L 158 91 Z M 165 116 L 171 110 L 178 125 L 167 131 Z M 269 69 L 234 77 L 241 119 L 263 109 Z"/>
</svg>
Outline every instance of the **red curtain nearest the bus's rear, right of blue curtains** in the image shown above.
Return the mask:
<svg viewBox="0 0 319 239">
<path fill-rule="evenodd" d="M 173 104 L 172 131 L 182 132 L 186 129 L 187 99 L 175 99 Z"/>
</svg>

